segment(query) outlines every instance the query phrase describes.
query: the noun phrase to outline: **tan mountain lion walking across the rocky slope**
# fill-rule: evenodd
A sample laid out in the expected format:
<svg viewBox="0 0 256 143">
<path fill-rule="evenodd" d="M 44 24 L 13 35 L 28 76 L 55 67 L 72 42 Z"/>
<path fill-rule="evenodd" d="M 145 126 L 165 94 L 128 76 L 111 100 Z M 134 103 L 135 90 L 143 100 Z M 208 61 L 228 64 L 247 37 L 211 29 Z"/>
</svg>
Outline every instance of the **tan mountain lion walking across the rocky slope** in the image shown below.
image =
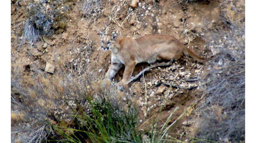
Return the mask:
<svg viewBox="0 0 256 143">
<path fill-rule="evenodd" d="M 124 74 L 121 85 L 127 85 L 127 81 L 133 73 L 137 63 L 153 63 L 161 59 L 178 60 L 182 53 L 189 55 L 197 61 L 203 58 L 197 56 L 193 51 L 185 47 L 176 38 L 170 35 L 146 35 L 137 39 L 112 37 L 109 42 L 107 36 L 101 37 L 101 47 L 111 50 L 111 65 L 106 73 L 106 78 L 111 80 L 124 64 Z M 107 41 L 107 42 L 106 42 Z"/>
</svg>

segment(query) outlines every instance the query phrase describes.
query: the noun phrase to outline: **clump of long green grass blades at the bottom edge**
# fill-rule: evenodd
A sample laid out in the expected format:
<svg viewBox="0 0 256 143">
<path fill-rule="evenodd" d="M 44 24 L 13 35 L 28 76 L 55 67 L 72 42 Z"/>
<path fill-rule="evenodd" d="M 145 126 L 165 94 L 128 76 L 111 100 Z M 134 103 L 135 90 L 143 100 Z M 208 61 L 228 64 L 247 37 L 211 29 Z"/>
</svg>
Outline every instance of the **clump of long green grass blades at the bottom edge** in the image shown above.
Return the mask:
<svg viewBox="0 0 256 143">
<path fill-rule="evenodd" d="M 133 106 L 127 111 L 118 109 L 104 97 L 99 101 L 89 99 L 90 111 L 82 111 L 75 117 L 76 126 L 71 128 L 54 126 L 55 132 L 67 142 L 139 142 L 136 128 L 137 114 Z M 82 110 L 82 109 L 81 109 Z M 69 132 L 66 132 L 68 130 Z"/>
</svg>

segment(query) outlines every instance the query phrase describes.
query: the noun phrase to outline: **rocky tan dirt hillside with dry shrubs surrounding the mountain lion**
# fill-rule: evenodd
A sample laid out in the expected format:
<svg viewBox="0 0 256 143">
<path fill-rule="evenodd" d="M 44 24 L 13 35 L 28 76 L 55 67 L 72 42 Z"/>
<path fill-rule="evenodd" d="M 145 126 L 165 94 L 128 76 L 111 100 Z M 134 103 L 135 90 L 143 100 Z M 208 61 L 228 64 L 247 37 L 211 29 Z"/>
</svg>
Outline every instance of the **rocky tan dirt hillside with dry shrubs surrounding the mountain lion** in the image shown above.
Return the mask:
<svg viewBox="0 0 256 143">
<path fill-rule="evenodd" d="M 133 105 L 136 128 L 146 132 L 157 119 L 157 129 L 169 127 L 170 142 L 244 141 L 243 0 L 11 3 L 12 142 L 62 140 L 53 127 L 75 127 L 74 116 L 90 112 L 85 95 L 125 111 Z M 182 56 L 120 91 L 115 83 L 124 68 L 112 83 L 104 80 L 111 52 L 101 50 L 99 31 L 119 38 L 173 35 L 198 55 L 214 57 L 198 63 Z M 149 66 L 136 65 L 133 75 Z"/>
</svg>

